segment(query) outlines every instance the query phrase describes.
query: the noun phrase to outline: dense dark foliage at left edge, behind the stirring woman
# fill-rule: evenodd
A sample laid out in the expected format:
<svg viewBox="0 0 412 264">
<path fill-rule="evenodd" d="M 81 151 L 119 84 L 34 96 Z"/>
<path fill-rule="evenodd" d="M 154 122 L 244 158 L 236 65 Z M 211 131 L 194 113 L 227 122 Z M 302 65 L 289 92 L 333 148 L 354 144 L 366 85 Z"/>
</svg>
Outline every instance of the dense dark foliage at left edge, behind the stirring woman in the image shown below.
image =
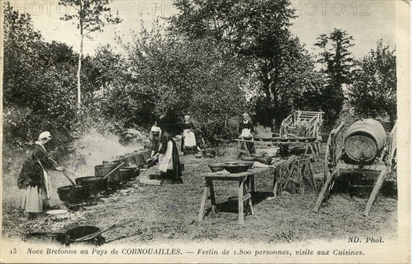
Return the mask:
<svg viewBox="0 0 412 264">
<path fill-rule="evenodd" d="M 73 140 L 91 125 L 82 114 L 87 109 L 73 107 L 78 54 L 63 43 L 45 42 L 30 15 L 4 4 L 3 157 L 27 150 L 42 131 L 52 133 L 47 148 L 54 155 L 71 153 Z"/>
</svg>

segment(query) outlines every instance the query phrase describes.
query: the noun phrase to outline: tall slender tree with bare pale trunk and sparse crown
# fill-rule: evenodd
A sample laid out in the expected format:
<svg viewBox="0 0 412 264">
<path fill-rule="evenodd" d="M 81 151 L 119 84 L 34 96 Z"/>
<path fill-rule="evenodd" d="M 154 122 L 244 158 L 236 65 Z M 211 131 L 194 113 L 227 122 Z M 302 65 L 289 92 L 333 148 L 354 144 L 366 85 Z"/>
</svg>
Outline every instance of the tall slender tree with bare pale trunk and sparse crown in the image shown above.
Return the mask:
<svg viewBox="0 0 412 264">
<path fill-rule="evenodd" d="M 83 58 L 83 40 L 84 36 L 92 39 L 92 32 L 102 32 L 104 26 L 115 25 L 122 22 L 122 19 L 118 17 L 118 13 L 113 16 L 111 14 L 111 8 L 107 5 L 110 0 L 59 0 L 58 4 L 63 5 L 66 8 L 73 8 L 76 10 L 75 14 L 64 14 L 61 20 L 70 21 L 77 25 L 80 30 L 80 52 L 78 57 L 78 70 L 77 70 L 77 87 L 78 87 L 78 107 L 81 105 L 81 84 L 80 84 L 80 72 L 82 69 Z"/>
</svg>

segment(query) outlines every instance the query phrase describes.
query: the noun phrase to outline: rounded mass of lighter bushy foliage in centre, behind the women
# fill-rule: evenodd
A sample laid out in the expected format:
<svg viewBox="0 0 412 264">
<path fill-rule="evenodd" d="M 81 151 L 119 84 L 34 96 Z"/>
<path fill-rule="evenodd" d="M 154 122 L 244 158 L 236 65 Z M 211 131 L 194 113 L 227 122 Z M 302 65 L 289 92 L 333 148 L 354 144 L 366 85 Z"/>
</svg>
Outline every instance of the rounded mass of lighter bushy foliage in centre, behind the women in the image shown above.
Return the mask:
<svg viewBox="0 0 412 264">
<path fill-rule="evenodd" d="M 135 113 L 135 124 L 158 122 L 177 134 L 183 116 L 190 114 L 205 127 L 205 136 L 213 137 L 216 129 L 211 126 L 227 127 L 246 102 L 237 61 L 218 52 L 209 39 L 187 41 L 160 31 L 143 28 L 125 45 L 123 94 L 128 98 L 119 103 L 134 107 L 126 111 Z"/>
</svg>

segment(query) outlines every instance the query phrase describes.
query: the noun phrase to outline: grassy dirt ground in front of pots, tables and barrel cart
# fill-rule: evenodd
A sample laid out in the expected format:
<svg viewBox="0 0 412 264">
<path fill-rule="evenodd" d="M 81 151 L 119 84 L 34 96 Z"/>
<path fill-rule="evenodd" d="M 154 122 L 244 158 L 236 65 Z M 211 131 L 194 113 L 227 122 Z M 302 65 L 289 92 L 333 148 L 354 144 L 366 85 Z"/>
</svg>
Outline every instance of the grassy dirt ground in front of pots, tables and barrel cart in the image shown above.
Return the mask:
<svg viewBox="0 0 412 264">
<path fill-rule="evenodd" d="M 244 225 L 238 224 L 236 196 L 238 186 L 233 182 L 220 181 L 215 184 L 218 213 L 207 210 L 204 221 L 198 222 L 198 212 L 203 192 L 202 173 L 209 172 L 208 163 L 236 159 L 236 148 L 229 145 L 221 148 L 224 156 L 196 159 L 194 155 L 181 155 L 185 164 L 183 184 L 161 186 L 137 183 L 130 191 L 114 192 L 102 197 L 97 205 L 85 205 L 83 210 L 71 210 L 64 219 L 50 220 L 46 214 L 28 220 L 21 207 L 23 190 L 14 181 L 3 178 L 3 239 L 24 239 L 58 243 L 50 236 L 27 238 L 30 232 L 65 232 L 78 225 L 95 225 L 107 228 L 116 221 L 137 221 L 104 233 L 106 243 L 147 242 L 203 242 L 236 241 L 238 243 L 262 242 L 284 243 L 309 239 L 347 239 L 348 236 L 379 235 L 396 239 L 397 199 L 396 196 L 379 195 L 369 217 L 363 217 L 368 195 L 336 193 L 323 203 L 318 213 L 312 212 L 317 193 L 306 190 L 304 195 L 286 194 L 273 199 L 273 169 L 255 175 L 253 193 L 254 215 L 247 215 Z M 322 153 L 321 153 L 322 154 Z M 314 166 L 315 173 L 322 173 L 323 156 Z M 89 172 L 90 173 L 90 172 Z M 83 175 L 87 176 L 87 175 Z M 3 175 L 14 177 L 14 175 Z M 74 179 L 74 176 L 73 178 Z M 8 186 L 6 186 L 8 185 Z M 56 189 L 69 185 L 63 175 L 52 175 L 52 203 L 60 208 Z M 207 201 L 209 207 L 209 200 Z M 248 232 L 245 232 L 248 230 Z"/>
</svg>

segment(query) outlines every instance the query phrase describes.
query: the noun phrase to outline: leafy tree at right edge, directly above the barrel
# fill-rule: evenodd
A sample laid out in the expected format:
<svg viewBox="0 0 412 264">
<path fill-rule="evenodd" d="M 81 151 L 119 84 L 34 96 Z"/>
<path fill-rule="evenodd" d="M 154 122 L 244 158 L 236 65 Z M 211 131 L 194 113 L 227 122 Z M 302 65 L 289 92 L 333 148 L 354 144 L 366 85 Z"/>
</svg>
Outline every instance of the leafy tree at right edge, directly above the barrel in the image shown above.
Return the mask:
<svg viewBox="0 0 412 264">
<path fill-rule="evenodd" d="M 396 121 L 396 50 L 377 42 L 376 50 L 356 61 L 350 104 L 361 118 L 389 117 Z"/>
</svg>

